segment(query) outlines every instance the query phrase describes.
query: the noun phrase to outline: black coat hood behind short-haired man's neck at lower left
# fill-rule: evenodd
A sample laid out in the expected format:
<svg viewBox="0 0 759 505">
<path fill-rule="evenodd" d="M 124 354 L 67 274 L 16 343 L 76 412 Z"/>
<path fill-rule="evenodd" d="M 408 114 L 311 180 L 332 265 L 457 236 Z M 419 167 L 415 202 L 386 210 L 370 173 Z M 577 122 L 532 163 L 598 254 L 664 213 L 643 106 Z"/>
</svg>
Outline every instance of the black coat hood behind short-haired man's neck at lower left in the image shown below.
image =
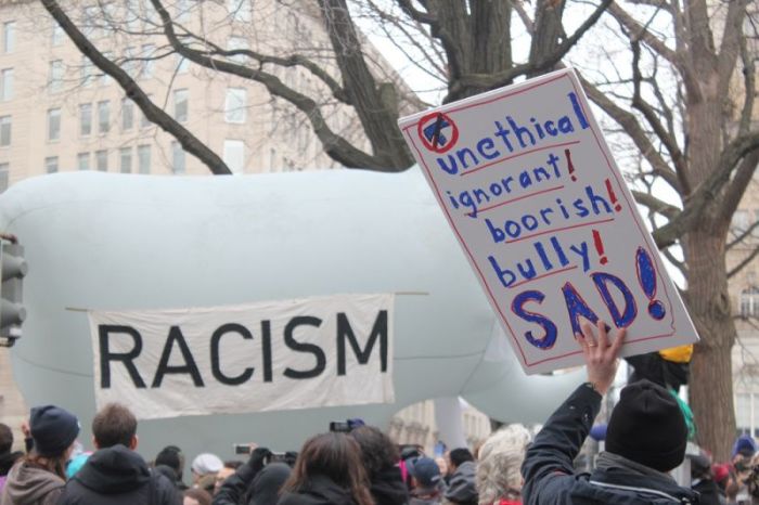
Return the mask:
<svg viewBox="0 0 759 505">
<path fill-rule="evenodd" d="M 151 472 L 142 456 L 120 444 L 92 454 L 74 477 L 86 488 L 102 494 L 133 491 L 150 479 Z"/>
</svg>

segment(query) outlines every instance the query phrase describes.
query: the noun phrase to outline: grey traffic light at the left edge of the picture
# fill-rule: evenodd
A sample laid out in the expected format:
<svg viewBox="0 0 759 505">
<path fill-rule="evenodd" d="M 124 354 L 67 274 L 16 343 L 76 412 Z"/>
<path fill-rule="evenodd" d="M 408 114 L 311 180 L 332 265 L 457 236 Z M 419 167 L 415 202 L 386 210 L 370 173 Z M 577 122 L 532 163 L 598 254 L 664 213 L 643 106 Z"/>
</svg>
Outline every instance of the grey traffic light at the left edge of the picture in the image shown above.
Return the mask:
<svg viewBox="0 0 759 505">
<path fill-rule="evenodd" d="M 23 282 L 29 267 L 24 259 L 24 247 L 12 242 L 0 242 L 0 342 L 11 347 L 21 337 L 21 325 L 26 319 L 23 306 Z"/>
</svg>

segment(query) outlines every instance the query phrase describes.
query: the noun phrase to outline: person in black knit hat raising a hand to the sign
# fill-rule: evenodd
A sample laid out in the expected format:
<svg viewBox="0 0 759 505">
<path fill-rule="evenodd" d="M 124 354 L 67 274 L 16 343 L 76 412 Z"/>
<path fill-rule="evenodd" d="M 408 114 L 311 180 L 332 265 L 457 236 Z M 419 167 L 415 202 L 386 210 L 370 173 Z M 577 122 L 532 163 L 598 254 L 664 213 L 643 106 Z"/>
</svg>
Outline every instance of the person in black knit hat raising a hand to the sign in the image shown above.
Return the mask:
<svg viewBox="0 0 759 505">
<path fill-rule="evenodd" d="M 625 328 L 609 341 L 599 321 L 597 341 L 582 325 L 577 341 L 588 367 L 580 386 L 549 418 L 527 450 L 522 475 L 524 505 L 616 504 L 683 505 L 698 503 L 698 494 L 681 488 L 667 472 L 685 457 L 687 427 L 670 392 L 648 380 L 622 389 L 606 431 L 606 451 L 593 474 L 575 475 L 580 452 L 603 396 L 614 383 Z"/>
</svg>

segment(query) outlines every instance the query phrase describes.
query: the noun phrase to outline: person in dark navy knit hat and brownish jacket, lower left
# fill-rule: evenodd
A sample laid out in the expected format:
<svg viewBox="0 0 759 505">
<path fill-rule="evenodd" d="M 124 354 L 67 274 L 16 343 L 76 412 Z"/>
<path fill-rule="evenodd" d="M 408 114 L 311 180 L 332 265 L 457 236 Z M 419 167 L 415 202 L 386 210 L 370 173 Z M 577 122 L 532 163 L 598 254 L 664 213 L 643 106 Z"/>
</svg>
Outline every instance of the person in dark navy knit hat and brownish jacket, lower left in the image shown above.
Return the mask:
<svg viewBox="0 0 759 505">
<path fill-rule="evenodd" d="M 0 505 L 53 505 L 66 484 L 66 461 L 79 436 L 79 420 L 54 405 L 31 409 L 33 449 L 8 474 Z"/>
</svg>

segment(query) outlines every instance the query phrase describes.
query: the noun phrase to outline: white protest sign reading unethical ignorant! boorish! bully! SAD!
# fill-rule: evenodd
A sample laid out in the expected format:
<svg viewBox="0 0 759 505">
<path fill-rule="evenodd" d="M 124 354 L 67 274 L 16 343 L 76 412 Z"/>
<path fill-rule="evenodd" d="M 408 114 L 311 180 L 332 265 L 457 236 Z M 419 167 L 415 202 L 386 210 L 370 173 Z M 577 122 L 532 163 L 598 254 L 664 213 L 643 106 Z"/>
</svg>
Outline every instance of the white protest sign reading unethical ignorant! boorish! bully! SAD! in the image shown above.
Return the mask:
<svg viewBox="0 0 759 505">
<path fill-rule="evenodd" d="M 527 373 L 581 364 L 583 320 L 622 355 L 697 340 L 573 70 L 399 126 Z"/>
</svg>

